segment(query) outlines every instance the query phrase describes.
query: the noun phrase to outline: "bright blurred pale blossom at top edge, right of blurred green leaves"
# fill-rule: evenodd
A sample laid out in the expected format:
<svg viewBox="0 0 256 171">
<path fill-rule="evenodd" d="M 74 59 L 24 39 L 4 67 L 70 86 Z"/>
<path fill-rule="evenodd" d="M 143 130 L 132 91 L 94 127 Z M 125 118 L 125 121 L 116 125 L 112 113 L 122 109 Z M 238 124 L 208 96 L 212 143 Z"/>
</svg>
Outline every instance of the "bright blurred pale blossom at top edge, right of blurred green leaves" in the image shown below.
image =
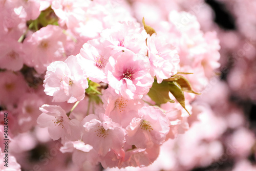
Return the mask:
<svg viewBox="0 0 256 171">
<path fill-rule="evenodd" d="M 59 17 L 59 25 L 83 38 L 97 38 L 103 30 L 101 18 L 104 7 L 89 0 L 53 1 L 52 9 Z M 84 31 L 87 30 L 87 31 Z"/>
</svg>

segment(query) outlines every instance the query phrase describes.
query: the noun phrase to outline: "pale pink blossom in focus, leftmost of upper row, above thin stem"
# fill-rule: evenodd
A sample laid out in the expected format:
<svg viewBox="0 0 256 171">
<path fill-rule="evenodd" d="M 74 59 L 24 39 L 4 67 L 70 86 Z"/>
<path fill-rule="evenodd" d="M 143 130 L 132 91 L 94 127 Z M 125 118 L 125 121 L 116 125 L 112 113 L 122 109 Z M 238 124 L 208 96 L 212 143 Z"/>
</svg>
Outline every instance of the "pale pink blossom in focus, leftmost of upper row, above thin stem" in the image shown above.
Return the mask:
<svg viewBox="0 0 256 171">
<path fill-rule="evenodd" d="M 55 61 L 47 67 L 44 87 L 52 101 L 74 103 L 84 98 L 88 81 L 81 63 L 80 56 L 69 56 L 65 62 Z"/>
</svg>

